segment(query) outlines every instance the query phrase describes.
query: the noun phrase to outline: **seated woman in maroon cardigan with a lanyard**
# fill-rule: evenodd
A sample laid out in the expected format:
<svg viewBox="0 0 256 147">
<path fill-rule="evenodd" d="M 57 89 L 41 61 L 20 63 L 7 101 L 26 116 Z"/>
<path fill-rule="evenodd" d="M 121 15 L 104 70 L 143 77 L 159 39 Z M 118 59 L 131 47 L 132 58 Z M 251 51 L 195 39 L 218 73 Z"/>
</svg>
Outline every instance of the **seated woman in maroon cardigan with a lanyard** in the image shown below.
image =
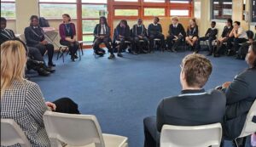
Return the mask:
<svg viewBox="0 0 256 147">
<path fill-rule="evenodd" d="M 78 59 L 77 51 L 79 49 L 79 42 L 76 40 L 76 27 L 71 22 L 69 14 L 62 14 L 63 23 L 59 26 L 61 45 L 67 46 L 71 54 L 72 61 Z"/>
</svg>

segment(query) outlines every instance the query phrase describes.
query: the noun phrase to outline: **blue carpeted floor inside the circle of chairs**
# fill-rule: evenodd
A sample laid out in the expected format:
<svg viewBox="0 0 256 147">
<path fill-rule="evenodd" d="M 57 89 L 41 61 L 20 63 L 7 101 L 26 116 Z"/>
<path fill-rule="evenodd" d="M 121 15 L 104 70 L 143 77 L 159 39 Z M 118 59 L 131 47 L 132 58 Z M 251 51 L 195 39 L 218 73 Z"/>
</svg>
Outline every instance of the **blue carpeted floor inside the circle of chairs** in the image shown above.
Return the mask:
<svg viewBox="0 0 256 147">
<path fill-rule="evenodd" d="M 124 54 L 109 60 L 108 54 L 95 58 L 92 50 L 84 50 L 80 61 L 71 62 L 69 56 L 65 64 L 54 60 L 54 74 L 31 80 L 39 84 L 46 100 L 70 97 L 83 114 L 97 117 L 103 133 L 127 136 L 130 147 L 142 147 L 143 118 L 155 115 L 160 99 L 179 94 L 179 65 L 190 53 Z M 209 59 L 213 71 L 206 89 L 232 81 L 247 68 L 245 61 L 234 57 Z"/>
</svg>

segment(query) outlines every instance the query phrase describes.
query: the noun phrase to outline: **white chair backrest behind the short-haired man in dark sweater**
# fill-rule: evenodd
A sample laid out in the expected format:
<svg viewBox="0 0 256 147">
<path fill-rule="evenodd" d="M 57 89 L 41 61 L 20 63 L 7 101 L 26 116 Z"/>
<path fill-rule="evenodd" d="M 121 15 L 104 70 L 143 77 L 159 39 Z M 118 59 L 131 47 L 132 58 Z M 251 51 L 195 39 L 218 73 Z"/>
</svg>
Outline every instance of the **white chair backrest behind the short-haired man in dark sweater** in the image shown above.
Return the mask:
<svg viewBox="0 0 256 147">
<path fill-rule="evenodd" d="M 221 137 L 220 123 L 201 126 L 164 125 L 160 133 L 160 147 L 218 147 Z"/>
</svg>

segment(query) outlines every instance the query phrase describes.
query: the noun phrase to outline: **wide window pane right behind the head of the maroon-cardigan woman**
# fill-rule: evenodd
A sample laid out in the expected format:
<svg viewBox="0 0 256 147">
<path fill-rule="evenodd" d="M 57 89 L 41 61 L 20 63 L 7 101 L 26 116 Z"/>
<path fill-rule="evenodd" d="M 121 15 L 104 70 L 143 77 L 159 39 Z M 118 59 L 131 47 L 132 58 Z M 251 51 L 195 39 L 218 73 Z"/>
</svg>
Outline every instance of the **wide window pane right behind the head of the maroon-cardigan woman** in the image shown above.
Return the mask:
<svg viewBox="0 0 256 147">
<path fill-rule="evenodd" d="M 40 4 L 40 16 L 48 19 L 61 19 L 62 14 L 77 18 L 76 4 Z"/>
</svg>

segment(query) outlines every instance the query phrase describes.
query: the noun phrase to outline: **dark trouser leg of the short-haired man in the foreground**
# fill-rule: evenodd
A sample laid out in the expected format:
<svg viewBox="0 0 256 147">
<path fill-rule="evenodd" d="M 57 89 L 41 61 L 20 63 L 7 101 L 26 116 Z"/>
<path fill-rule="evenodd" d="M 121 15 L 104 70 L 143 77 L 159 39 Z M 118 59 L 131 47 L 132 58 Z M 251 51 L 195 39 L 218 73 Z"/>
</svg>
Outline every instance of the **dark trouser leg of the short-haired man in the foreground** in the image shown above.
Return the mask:
<svg viewBox="0 0 256 147">
<path fill-rule="evenodd" d="M 159 147 L 160 133 L 156 128 L 156 116 L 149 116 L 143 120 L 144 127 L 144 147 Z"/>
</svg>

